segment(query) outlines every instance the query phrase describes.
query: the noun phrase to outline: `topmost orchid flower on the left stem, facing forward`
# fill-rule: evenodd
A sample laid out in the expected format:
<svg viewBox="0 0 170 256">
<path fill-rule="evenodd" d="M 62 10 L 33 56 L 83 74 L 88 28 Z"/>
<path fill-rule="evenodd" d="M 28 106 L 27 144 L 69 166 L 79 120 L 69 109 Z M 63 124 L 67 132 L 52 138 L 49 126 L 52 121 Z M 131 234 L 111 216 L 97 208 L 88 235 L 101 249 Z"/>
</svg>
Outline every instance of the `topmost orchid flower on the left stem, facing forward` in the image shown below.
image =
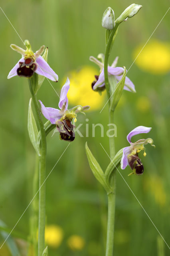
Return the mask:
<svg viewBox="0 0 170 256">
<path fill-rule="evenodd" d="M 55 74 L 52 68 L 50 68 L 41 56 L 45 46 L 43 45 L 38 51 L 36 51 L 36 53 L 34 53 L 28 40 L 25 40 L 24 44 L 26 46 L 26 50 L 16 46 L 15 44 L 10 45 L 12 50 L 22 54 L 22 58 L 17 62 L 14 68 L 12 68 L 8 74 L 8 79 L 17 75 L 30 78 L 34 72 L 36 72 L 41 76 L 49 78 L 51 81 L 58 82 L 57 74 Z"/>
</svg>

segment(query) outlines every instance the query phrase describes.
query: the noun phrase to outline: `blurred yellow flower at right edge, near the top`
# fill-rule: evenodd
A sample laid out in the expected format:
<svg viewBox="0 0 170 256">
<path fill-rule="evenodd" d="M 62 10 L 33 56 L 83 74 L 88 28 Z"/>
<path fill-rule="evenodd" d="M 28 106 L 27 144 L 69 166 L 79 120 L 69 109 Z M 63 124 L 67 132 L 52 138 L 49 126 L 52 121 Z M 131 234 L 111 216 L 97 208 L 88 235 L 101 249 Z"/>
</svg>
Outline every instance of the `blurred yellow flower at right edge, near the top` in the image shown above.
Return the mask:
<svg viewBox="0 0 170 256">
<path fill-rule="evenodd" d="M 134 60 L 142 50 L 138 46 L 133 52 Z M 170 71 L 170 44 L 158 40 L 149 41 L 135 61 L 142 70 L 152 74 L 165 74 Z"/>
</svg>

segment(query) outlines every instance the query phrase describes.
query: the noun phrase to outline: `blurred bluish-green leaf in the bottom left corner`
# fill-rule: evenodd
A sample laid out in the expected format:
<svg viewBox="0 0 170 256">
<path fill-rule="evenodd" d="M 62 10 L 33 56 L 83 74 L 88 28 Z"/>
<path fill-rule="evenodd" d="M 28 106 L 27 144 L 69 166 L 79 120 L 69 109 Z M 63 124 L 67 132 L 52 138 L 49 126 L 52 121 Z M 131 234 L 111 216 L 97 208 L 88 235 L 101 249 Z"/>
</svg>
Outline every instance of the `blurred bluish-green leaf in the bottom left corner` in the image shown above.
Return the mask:
<svg viewBox="0 0 170 256">
<path fill-rule="evenodd" d="M 0 226 L 4 226 L 4 228 L 6 227 L 6 224 L 0 220 Z M 3 237 L 4 240 L 6 240 L 6 244 L 11 252 L 12 256 L 20 256 L 20 252 L 18 251 L 18 248 L 14 242 L 14 240 L 12 239 L 11 236 L 8 236 L 9 233 L 5 232 L 5 231 L 0 231 L 1 236 Z"/>
</svg>

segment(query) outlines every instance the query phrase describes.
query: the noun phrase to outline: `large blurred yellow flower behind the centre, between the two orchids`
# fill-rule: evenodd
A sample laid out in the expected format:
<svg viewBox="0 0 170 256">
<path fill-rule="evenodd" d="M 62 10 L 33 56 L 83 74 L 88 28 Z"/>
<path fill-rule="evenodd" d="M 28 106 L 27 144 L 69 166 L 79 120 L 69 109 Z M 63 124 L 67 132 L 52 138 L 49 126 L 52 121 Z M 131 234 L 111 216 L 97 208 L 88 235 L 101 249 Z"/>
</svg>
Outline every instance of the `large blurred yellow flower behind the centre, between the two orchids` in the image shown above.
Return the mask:
<svg viewBox="0 0 170 256">
<path fill-rule="evenodd" d="M 70 80 L 70 89 L 67 94 L 71 105 L 90 106 L 90 110 L 101 109 L 105 92 L 99 95 L 91 88 L 92 82 L 95 80 L 95 75 L 99 74 L 99 70 L 92 66 L 83 66 L 78 70 L 71 70 L 68 74 Z M 63 79 L 65 83 L 66 77 Z"/>
</svg>

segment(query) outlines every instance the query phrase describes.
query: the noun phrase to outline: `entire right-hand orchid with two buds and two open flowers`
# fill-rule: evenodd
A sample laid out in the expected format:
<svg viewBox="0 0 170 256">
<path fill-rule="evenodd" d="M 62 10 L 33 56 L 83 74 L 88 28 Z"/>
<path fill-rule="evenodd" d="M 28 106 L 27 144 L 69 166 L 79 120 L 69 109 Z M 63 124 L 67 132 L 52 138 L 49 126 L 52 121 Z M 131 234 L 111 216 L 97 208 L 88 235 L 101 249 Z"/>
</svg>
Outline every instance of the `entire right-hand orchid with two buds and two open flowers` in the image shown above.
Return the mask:
<svg viewBox="0 0 170 256">
<path fill-rule="evenodd" d="M 131 4 L 128 6 L 122 14 L 115 19 L 115 12 L 111 7 L 108 7 L 102 18 L 102 26 L 106 29 L 105 34 L 105 54 L 99 54 L 97 58 L 91 56 L 90 60 L 97 64 L 100 68 L 99 74 L 95 75 L 95 80 L 92 82 L 91 87 L 95 92 L 102 94 L 104 90 L 107 92 L 107 105 L 109 112 L 109 122 L 113 122 L 116 106 L 121 99 L 123 90 L 136 92 L 135 86 L 132 81 L 126 76 L 127 69 L 125 67 L 117 67 L 118 57 L 115 58 L 111 66 L 109 65 L 109 56 L 113 43 L 117 36 L 119 25 L 129 18 L 132 18 L 138 13 L 142 6 L 139 4 Z M 105 108 L 103 107 L 103 109 Z M 102 109 L 102 110 L 103 110 Z M 102 111 L 101 110 L 101 111 Z M 100 112 L 101 113 L 101 112 Z M 93 156 L 91 150 L 89 149 L 87 143 L 85 145 L 85 150 L 87 154 L 87 159 L 89 161 L 89 166 L 95 176 L 95 178 L 101 183 L 103 188 L 107 192 L 108 198 L 108 219 L 107 219 L 107 238 L 106 238 L 106 253 L 105 256 L 113 256 L 113 240 L 114 240 L 114 228 L 115 228 L 115 201 L 116 201 L 116 174 L 119 165 L 121 164 L 121 169 L 124 170 L 127 166 L 132 169 L 131 174 L 141 175 L 144 172 L 144 166 L 138 154 L 140 151 L 144 150 L 144 156 L 146 156 L 145 145 L 153 145 L 153 140 L 151 138 L 140 139 L 136 142 L 131 142 L 131 138 L 134 135 L 141 133 L 148 133 L 152 128 L 145 126 L 138 126 L 134 128 L 127 136 L 127 140 L 130 146 L 121 148 L 115 154 L 115 138 L 109 137 L 109 147 L 110 147 L 110 163 L 106 170 L 103 171 L 100 164 L 97 162 Z M 122 176 L 122 175 L 121 175 Z M 131 189 L 130 189 L 131 190 Z"/>
</svg>

